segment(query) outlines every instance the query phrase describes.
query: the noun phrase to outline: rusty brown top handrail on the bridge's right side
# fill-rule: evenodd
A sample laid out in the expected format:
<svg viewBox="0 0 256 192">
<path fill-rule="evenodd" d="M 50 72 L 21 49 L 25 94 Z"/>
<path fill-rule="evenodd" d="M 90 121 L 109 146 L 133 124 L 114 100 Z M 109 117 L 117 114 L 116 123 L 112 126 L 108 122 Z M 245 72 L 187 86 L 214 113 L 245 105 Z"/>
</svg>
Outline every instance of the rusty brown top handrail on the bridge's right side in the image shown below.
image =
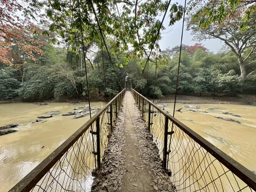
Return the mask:
<svg viewBox="0 0 256 192">
<path fill-rule="evenodd" d="M 132 92 L 139 95 L 139 97 L 143 98 L 145 101 L 150 103 L 151 106 L 154 106 L 159 113 L 163 114 L 166 118 L 173 122 L 173 124 L 177 125 L 182 131 L 184 131 L 190 138 L 195 140 L 200 146 L 202 146 L 208 153 L 210 153 L 213 157 L 215 157 L 219 162 L 225 165 L 231 172 L 233 172 L 237 177 L 239 177 L 242 181 L 244 181 L 249 187 L 256 191 L 256 175 L 251 172 L 249 169 L 238 163 L 236 160 L 231 158 L 229 155 L 224 153 L 219 148 L 215 147 L 213 144 L 208 142 L 202 136 L 197 134 L 187 125 L 184 125 L 179 120 L 171 116 L 169 113 L 164 111 L 163 109 L 159 108 L 155 103 L 135 91 L 131 89 Z"/>
</svg>

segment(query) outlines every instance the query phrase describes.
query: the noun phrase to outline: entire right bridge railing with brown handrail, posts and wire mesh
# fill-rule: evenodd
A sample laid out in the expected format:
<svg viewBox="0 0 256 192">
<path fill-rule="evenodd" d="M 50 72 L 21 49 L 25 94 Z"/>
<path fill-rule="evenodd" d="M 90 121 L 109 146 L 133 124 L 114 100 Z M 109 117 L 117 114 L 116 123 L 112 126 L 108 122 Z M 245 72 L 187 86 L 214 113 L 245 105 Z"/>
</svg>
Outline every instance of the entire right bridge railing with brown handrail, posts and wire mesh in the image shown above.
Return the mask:
<svg viewBox="0 0 256 192">
<path fill-rule="evenodd" d="M 137 91 L 133 97 L 177 191 L 256 191 L 256 175 Z"/>
</svg>

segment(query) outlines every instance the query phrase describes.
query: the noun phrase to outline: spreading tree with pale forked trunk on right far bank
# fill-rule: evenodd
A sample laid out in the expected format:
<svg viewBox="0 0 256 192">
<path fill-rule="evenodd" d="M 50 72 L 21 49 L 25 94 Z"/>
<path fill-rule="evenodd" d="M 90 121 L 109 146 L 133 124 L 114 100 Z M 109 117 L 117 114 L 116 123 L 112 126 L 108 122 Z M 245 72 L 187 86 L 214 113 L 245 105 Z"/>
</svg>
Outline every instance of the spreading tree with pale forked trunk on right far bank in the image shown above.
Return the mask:
<svg viewBox="0 0 256 192">
<path fill-rule="evenodd" d="M 222 1 L 221 1 L 222 2 Z M 212 6 L 212 5 L 211 5 Z M 217 11 L 221 3 L 216 3 L 212 7 Z M 232 11 L 232 16 L 225 20 L 212 20 L 208 25 L 201 26 L 201 21 L 207 20 L 208 13 L 204 12 L 204 7 L 193 13 L 193 16 L 188 19 L 188 30 L 192 30 L 194 40 L 202 41 L 204 39 L 218 38 L 225 42 L 225 44 L 234 52 L 240 66 L 240 80 L 239 84 L 243 84 L 248 75 L 251 75 L 256 70 L 246 72 L 246 60 L 256 50 L 256 22 L 255 19 L 250 21 L 242 21 L 245 11 L 237 8 Z M 223 7 L 227 11 L 228 7 Z M 214 12 L 214 11 L 213 11 Z M 256 18 L 256 13 L 251 14 Z M 202 19 L 203 18 L 203 19 Z M 247 28 L 241 30 L 241 25 L 246 23 Z M 250 51 L 245 54 L 245 50 Z M 252 61 L 252 62 L 256 62 Z"/>
</svg>

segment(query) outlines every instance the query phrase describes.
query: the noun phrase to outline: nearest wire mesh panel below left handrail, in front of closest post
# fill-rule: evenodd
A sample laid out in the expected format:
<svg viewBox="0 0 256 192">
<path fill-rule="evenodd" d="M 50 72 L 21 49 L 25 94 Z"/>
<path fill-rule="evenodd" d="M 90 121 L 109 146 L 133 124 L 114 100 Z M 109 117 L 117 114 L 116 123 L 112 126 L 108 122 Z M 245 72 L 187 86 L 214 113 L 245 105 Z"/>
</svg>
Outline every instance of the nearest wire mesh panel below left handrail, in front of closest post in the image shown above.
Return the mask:
<svg viewBox="0 0 256 192">
<path fill-rule="evenodd" d="M 96 122 L 89 130 L 96 131 Z M 97 166 L 95 137 L 87 130 L 31 191 L 90 191 L 91 171 Z"/>
</svg>

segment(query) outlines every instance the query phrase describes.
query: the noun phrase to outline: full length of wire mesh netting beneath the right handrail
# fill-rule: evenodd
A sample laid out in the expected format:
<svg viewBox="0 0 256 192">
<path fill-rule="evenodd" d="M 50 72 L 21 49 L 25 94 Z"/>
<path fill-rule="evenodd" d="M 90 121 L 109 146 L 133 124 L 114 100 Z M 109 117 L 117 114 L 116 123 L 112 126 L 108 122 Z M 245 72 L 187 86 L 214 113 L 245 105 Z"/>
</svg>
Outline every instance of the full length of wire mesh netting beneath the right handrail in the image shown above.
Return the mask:
<svg viewBox="0 0 256 192">
<path fill-rule="evenodd" d="M 132 94 L 138 108 L 140 107 L 139 101 L 142 103 L 140 99 L 144 99 L 144 108 L 139 109 L 143 112 L 143 119 L 147 127 L 149 125 L 150 133 L 159 149 L 159 155 L 163 158 L 164 138 L 167 134 L 167 165 L 165 168 L 172 172 L 170 181 L 176 186 L 177 191 L 253 191 L 211 153 L 182 131 L 181 127 L 173 124 L 170 115 L 161 112 L 156 105 L 148 102 L 145 97 L 134 90 Z M 168 118 L 166 133 L 165 118 Z"/>
</svg>

